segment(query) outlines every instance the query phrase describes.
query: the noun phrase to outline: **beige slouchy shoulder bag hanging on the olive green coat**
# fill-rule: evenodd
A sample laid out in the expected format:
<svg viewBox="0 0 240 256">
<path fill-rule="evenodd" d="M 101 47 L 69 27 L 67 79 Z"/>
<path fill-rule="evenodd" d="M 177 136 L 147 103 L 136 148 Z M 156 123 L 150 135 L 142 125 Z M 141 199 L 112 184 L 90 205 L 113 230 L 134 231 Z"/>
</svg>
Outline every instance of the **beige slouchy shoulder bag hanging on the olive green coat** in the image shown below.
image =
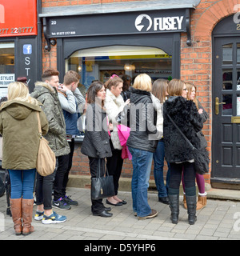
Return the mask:
<svg viewBox="0 0 240 256">
<path fill-rule="evenodd" d="M 39 112 L 38 115 L 38 132 L 39 132 L 39 147 L 38 147 L 38 156 L 37 156 L 37 165 L 36 169 L 38 174 L 41 176 L 48 176 L 52 174 L 56 167 L 56 157 L 54 151 L 48 146 L 48 141 L 46 138 L 42 137 L 42 128 L 40 122 Z"/>
</svg>

